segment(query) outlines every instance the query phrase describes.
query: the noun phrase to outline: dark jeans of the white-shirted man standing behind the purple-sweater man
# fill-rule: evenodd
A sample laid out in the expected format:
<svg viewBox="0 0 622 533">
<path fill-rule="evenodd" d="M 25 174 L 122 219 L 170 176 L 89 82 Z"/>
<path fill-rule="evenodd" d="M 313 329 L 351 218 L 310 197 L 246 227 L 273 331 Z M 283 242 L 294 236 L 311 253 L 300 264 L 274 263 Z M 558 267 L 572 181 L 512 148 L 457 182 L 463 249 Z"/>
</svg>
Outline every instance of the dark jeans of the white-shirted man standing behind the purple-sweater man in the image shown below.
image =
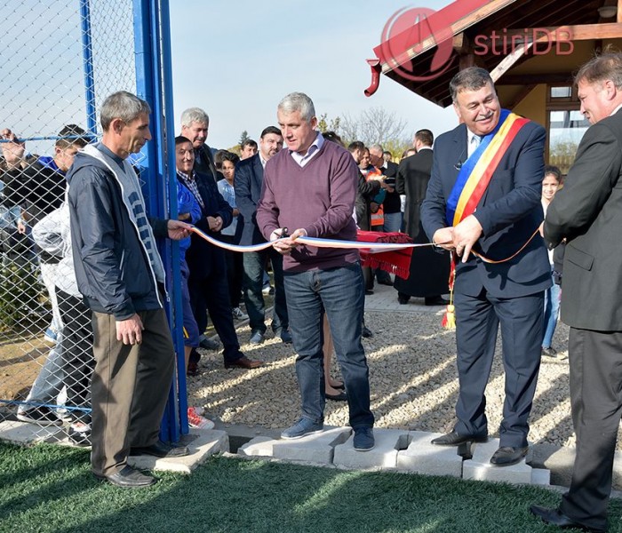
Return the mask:
<svg viewBox="0 0 622 533">
<path fill-rule="evenodd" d="M 266 332 L 266 304 L 261 290 L 264 285 L 264 267 L 267 259 L 272 262 L 275 274 L 275 307 L 272 313 L 272 330 L 275 333 L 290 327 L 287 316 L 287 303 L 283 289 L 283 257 L 273 248 L 262 251 L 249 251 L 243 254 L 244 266 L 244 304 L 249 315 L 252 331 Z"/>
</svg>

